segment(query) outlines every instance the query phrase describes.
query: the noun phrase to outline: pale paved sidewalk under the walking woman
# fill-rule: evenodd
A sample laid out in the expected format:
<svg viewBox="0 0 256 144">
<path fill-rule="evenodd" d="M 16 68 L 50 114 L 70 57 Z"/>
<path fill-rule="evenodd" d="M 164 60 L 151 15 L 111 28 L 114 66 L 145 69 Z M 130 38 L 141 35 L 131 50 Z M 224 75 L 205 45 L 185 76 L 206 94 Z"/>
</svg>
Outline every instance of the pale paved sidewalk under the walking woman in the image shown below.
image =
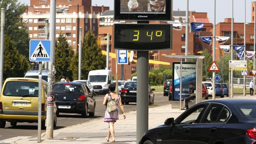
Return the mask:
<svg viewBox="0 0 256 144">
<path fill-rule="evenodd" d="M 171 109 L 171 105 L 150 108 L 148 113 L 148 127 L 152 129 L 158 125 L 163 125 L 166 118 L 177 118 L 182 112 Z M 120 120 L 115 123 L 115 139 L 117 144 L 136 144 L 136 111 L 126 113 L 126 119 L 119 116 Z M 103 122 L 103 118 L 92 120 L 54 130 L 54 138 L 46 139 L 42 134 L 43 144 L 105 144 L 108 132 L 108 123 Z M 110 138 L 111 140 L 111 138 Z M 12 144 L 36 144 L 37 137 L 19 139 Z"/>
</svg>

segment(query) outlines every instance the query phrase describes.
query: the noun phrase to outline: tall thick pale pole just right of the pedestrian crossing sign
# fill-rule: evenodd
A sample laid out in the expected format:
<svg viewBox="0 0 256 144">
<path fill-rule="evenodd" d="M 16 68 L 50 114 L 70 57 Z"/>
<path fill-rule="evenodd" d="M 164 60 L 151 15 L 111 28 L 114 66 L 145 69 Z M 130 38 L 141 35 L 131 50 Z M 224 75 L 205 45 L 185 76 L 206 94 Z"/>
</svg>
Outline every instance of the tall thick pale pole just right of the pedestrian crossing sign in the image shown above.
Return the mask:
<svg viewBox="0 0 256 144">
<path fill-rule="evenodd" d="M 50 0 L 50 40 L 51 40 L 51 61 L 48 65 L 48 94 L 54 92 L 52 85 L 54 84 L 53 66 L 55 64 L 55 26 L 56 26 L 56 0 Z M 46 138 L 53 138 L 53 107 L 47 106 L 46 116 Z"/>
</svg>

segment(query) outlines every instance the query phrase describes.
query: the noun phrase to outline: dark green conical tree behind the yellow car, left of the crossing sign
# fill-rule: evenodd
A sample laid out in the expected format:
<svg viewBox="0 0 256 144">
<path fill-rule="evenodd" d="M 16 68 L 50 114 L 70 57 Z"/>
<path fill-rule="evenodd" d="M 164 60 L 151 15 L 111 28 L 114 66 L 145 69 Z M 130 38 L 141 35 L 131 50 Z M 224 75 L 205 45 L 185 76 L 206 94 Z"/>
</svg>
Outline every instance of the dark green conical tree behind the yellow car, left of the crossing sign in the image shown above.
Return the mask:
<svg viewBox="0 0 256 144">
<path fill-rule="evenodd" d="M 4 44 L 4 80 L 10 77 L 24 77 L 29 69 L 29 61 L 21 54 L 11 38 L 5 35 Z"/>
</svg>

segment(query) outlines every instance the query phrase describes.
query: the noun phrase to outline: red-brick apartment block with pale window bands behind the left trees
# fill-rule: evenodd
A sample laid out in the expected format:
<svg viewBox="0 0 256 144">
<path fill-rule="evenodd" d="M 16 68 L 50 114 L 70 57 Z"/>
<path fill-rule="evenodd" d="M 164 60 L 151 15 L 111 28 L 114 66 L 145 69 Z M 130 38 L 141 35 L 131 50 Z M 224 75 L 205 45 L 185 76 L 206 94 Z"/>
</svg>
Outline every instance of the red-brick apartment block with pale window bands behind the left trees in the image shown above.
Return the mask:
<svg viewBox="0 0 256 144">
<path fill-rule="evenodd" d="M 92 6 L 91 0 L 56 0 L 56 38 L 63 33 L 76 52 L 79 27 L 83 28 L 83 37 L 89 29 L 98 35 L 100 14 L 108 9 Z M 45 19 L 50 18 L 50 0 L 30 0 L 30 6 L 22 17 L 31 39 L 45 39 Z"/>
</svg>

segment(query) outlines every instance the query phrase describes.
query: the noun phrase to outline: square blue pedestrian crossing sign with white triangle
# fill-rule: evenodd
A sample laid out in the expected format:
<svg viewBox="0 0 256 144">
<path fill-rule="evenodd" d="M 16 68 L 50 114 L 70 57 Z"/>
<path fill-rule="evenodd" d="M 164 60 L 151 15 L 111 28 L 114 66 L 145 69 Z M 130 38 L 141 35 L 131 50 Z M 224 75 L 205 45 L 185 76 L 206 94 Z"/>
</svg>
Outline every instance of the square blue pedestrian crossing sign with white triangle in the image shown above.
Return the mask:
<svg viewBox="0 0 256 144">
<path fill-rule="evenodd" d="M 29 61 L 51 61 L 51 41 L 30 40 Z"/>
</svg>

